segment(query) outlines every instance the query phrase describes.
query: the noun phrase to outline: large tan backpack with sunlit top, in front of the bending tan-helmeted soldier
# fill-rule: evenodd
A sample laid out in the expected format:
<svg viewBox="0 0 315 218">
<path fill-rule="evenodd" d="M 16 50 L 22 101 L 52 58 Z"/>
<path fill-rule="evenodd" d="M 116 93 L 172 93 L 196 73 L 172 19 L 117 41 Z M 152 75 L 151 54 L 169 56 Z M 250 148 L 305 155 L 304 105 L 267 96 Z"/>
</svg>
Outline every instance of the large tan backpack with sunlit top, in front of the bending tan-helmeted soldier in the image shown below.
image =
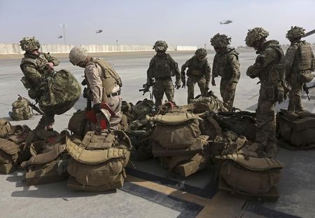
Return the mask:
<svg viewBox="0 0 315 218">
<path fill-rule="evenodd" d="M 69 179 L 68 187 L 85 190 L 85 186 L 99 186 L 99 189 L 87 191 L 106 191 L 115 186 L 121 188 L 121 177 L 125 178 L 125 166 L 130 158 L 132 145 L 129 137 L 121 130 L 114 130 L 108 135 L 95 135 L 87 132 L 83 140 L 68 139 L 66 149 L 71 155 L 68 172 L 76 179 Z M 113 185 L 116 184 L 116 185 Z M 117 184 L 121 184 L 118 186 Z M 109 188 L 109 189 L 106 189 Z"/>
</svg>

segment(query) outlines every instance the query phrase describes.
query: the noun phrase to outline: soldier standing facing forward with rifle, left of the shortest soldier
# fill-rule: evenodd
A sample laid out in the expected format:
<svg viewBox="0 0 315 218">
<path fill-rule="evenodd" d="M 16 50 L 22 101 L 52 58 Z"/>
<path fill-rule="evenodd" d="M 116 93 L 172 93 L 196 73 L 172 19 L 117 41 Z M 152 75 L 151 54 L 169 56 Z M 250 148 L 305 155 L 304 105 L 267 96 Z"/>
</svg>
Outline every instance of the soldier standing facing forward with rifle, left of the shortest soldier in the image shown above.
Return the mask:
<svg viewBox="0 0 315 218">
<path fill-rule="evenodd" d="M 155 97 L 155 106 L 160 107 L 163 95 L 167 100 L 174 102 L 174 85 L 171 76 L 176 76 L 176 89 L 181 88 L 181 74 L 179 66 L 173 60 L 171 55 L 165 53 L 168 46 L 165 41 L 156 41 L 153 49 L 156 55 L 151 59 L 145 87 L 153 86 L 153 95 Z"/>
</svg>

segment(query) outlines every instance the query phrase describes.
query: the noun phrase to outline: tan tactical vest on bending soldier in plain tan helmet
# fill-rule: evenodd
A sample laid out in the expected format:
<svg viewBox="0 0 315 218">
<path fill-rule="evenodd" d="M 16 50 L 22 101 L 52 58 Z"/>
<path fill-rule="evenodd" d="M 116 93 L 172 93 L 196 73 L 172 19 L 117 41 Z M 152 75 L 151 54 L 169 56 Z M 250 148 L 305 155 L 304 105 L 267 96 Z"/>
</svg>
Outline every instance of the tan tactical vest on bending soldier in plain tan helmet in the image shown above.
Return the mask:
<svg viewBox="0 0 315 218">
<path fill-rule="evenodd" d="M 110 95 L 111 90 L 113 90 L 116 85 L 120 87 L 123 86 L 120 76 L 115 71 L 115 69 L 113 69 L 111 64 L 109 64 L 109 62 L 106 62 L 104 59 L 94 59 L 94 62 L 99 64 L 99 66 L 102 68 L 102 76 L 100 77 L 102 79 L 102 86 L 106 90 L 106 95 Z"/>
</svg>

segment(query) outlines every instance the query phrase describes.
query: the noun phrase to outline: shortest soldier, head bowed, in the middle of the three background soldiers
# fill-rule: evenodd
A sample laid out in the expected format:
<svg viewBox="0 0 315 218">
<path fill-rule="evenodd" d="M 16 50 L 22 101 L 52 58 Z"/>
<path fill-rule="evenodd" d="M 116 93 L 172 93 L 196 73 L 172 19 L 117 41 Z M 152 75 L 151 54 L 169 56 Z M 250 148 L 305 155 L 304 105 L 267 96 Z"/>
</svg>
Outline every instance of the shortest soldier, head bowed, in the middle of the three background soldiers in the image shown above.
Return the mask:
<svg viewBox="0 0 315 218">
<path fill-rule="evenodd" d="M 196 83 L 198 83 L 202 97 L 206 96 L 207 91 L 209 90 L 211 68 L 206 57 L 207 50 L 199 48 L 196 50 L 195 55 L 181 67 L 181 81 L 183 82 L 183 88 L 186 88 L 185 70 L 188 67 L 188 104 L 194 99 L 194 88 Z"/>
</svg>

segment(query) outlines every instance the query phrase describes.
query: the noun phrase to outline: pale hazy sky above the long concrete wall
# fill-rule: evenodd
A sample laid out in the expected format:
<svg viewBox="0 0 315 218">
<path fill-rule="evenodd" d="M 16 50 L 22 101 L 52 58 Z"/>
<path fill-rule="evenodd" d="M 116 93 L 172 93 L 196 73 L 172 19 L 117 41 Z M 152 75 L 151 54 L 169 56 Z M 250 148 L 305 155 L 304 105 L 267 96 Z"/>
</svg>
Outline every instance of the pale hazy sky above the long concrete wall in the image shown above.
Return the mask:
<svg viewBox="0 0 315 218">
<path fill-rule="evenodd" d="M 291 25 L 315 29 L 314 0 L 0 0 L 0 43 L 18 43 L 36 36 L 41 43 L 141 44 L 165 40 L 171 45 L 204 46 L 214 34 L 232 37 L 244 46 L 247 29 L 264 27 L 267 39 L 288 43 Z M 229 25 L 220 21 L 230 19 Z M 97 29 L 104 32 L 96 34 Z M 306 38 L 315 43 L 315 34 Z"/>
</svg>

